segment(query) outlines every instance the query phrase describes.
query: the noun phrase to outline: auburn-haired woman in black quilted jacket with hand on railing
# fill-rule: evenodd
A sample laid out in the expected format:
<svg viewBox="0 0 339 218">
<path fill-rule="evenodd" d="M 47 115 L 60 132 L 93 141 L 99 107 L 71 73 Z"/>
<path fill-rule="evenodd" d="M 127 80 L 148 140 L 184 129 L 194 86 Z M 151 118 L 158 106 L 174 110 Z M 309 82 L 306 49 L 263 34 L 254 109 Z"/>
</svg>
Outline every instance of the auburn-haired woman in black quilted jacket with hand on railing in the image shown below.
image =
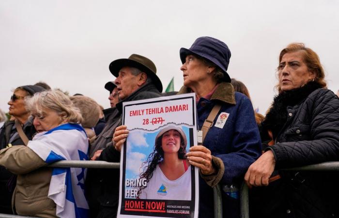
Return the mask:
<svg viewBox="0 0 339 218">
<path fill-rule="evenodd" d="M 339 160 L 339 98 L 326 88 L 318 55 L 293 43 L 279 55 L 278 95 L 262 122 L 273 144 L 245 175 L 250 217 L 339 217 L 336 171 L 274 170 Z M 277 171 L 275 171 L 277 172 Z"/>
</svg>

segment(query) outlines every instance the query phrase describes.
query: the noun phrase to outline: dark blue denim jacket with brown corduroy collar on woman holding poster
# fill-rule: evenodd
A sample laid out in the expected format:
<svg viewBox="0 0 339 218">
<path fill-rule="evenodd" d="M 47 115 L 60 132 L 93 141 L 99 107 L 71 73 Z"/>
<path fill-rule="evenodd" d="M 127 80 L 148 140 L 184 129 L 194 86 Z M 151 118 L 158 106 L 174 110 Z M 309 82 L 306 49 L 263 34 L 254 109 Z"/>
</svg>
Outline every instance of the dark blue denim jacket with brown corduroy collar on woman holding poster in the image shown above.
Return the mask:
<svg viewBox="0 0 339 218">
<path fill-rule="evenodd" d="M 179 91 L 189 92 L 191 90 L 185 86 Z M 200 174 L 200 218 L 214 216 L 212 187 L 218 183 L 239 184 L 249 165 L 261 154 L 261 140 L 251 101 L 244 94 L 234 92 L 231 83 L 220 83 L 210 100 L 203 97 L 199 99 L 199 129 L 216 104 L 221 105 L 221 109 L 202 144 L 211 151 L 217 173 L 209 176 Z M 220 128 L 216 126 L 216 121 L 222 112 L 227 113 L 228 117 Z M 228 218 L 240 217 L 239 199 L 223 193 L 223 215 Z"/>
</svg>

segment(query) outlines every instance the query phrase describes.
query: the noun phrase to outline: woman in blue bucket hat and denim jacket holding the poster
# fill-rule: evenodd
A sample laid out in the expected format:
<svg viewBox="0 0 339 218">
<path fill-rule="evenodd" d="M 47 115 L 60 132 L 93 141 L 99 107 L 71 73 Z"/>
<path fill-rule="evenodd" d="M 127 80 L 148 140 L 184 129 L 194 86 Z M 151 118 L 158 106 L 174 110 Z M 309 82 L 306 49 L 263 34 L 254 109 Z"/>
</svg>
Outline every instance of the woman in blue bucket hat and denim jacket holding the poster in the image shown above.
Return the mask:
<svg viewBox="0 0 339 218">
<path fill-rule="evenodd" d="M 186 154 L 190 165 L 200 170 L 200 218 L 214 217 L 212 187 L 219 183 L 224 190 L 237 187 L 248 166 L 261 153 L 251 101 L 244 94 L 234 92 L 230 83 L 227 73 L 230 57 L 227 45 L 212 37 L 200 37 L 190 49 L 180 49 L 184 86 L 178 94 L 196 93 L 200 128 L 214 106 L 221 107 L 213 119 L 214 124 L 219 121 L 220 125 L 211 126 L 202 145 L 190 147 Z M 117 127 L 114 134 L 113 144 L 119 150 L 128 130 L 126 126 Z M 228 193 L 222 195 L 223 215 L 238 218 L 239 198 L 234 196 L 235 193 Z"/>
</svg>

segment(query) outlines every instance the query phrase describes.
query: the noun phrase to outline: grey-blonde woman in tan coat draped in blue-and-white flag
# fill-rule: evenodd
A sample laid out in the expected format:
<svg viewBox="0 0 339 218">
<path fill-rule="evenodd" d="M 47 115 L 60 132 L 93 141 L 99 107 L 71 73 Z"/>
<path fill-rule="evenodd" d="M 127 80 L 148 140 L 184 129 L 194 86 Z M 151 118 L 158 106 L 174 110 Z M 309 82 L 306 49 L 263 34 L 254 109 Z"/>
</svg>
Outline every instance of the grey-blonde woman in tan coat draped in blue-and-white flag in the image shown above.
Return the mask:
<svg viewBox="0 0 339 218">
<path fill-rule="evenodd" d="M 85 169 L 44 167 L 59 160 L 88 159 L 88 139 L 78 125 L 80 111 L 60 91 L 36 93 L 25 102 L 38 133 L 27 146 L 0 150 L 0 165 L 18 175 L 13 210 L 23 216 L 87 218 Z"/>
</svg>

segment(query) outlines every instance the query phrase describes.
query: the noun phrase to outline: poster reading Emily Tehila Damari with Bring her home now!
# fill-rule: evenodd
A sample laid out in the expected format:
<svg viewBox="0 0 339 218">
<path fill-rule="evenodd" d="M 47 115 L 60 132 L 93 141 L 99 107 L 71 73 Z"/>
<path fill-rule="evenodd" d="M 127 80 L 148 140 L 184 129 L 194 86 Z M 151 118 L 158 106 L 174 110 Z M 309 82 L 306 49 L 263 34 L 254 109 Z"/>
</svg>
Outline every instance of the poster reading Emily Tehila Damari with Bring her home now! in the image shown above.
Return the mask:
<svg viewBox="0 0 339 218">
<path fill-rule="evenodd" d="M 196 118 L 194 93 L 123 103 L 118 218 L 198 218 L 198 168 L 185 159 Z"/>
</svg>

